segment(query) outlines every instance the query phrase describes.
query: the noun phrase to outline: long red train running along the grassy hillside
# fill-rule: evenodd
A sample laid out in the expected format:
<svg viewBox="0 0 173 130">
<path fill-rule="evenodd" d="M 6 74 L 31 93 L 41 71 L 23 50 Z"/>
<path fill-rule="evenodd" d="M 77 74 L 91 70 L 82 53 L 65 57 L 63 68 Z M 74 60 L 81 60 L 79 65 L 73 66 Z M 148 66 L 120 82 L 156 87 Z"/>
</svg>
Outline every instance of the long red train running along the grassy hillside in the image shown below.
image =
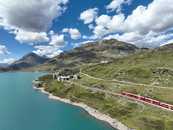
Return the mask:
<svg viewBox="0 0 173 130">
<path fill-rule="evenodd" d="M 122 92 L 121 94 L 123 96 L 127 96 L 129 98 L 134 98 L 134 99 L 137 99 L 137 100 L 141 100 L 142 102 L 150 103 L 150 104 L 160 106 L 160 107 L 163 107 L 163 108 L 166 108 L 166 109 L 169 109 L 169 110 L 173 110 L 173 105 L 171 105 L 171 104 L 167 104 L 167 103 L 164 103 L 164 102 L 160 102 L 158 100 L 154 100 L 154 99 L 151 99 L 151 98 L 147 98 L 147 97 L 140 96 L 140 95 L 133 94 L 133 93 L 129 93 L 129 92 Z"/>
</svg>

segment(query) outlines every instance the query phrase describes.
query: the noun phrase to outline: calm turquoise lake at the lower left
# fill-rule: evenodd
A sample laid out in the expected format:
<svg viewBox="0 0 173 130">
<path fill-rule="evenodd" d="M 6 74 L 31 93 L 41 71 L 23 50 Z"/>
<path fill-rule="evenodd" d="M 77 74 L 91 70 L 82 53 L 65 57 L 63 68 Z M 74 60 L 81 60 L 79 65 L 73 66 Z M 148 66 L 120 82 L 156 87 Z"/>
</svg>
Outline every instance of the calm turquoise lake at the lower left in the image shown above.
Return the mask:
<svg viewBox="0 0 173 130">
<path fill-rule="evenodd" d="M 0 130 L 114 130 L 83 109 L 32 88 L 41 73 L 0 73 Z"/>
</svg>

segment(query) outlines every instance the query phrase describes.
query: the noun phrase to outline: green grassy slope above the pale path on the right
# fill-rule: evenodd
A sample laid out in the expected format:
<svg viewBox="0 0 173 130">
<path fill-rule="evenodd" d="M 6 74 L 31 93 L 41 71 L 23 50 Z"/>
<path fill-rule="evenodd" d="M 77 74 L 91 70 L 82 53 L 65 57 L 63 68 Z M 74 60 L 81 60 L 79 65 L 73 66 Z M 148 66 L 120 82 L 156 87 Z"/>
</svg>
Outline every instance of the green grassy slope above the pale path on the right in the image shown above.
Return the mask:
<svg viewBox="0 0 173 130">
<path fill-rule="evenodd" d="M 87 74 L 104 79 L 173 86 L 173 44 L 141 51 L 104 66 L 89 66 Z M 99 70 L 99 71 L 98 71 Z"/>
</svg>

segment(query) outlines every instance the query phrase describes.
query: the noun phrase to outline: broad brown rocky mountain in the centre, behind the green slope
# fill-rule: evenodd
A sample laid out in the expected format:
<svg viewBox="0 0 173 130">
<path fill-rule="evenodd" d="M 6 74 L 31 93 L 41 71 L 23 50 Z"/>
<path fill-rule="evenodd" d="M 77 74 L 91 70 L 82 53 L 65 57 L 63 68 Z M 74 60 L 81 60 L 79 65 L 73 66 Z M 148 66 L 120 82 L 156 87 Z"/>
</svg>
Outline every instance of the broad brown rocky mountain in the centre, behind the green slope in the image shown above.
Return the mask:
<svg viewBox="0 0 173 130">
<path fill-rule="evenodd" d="M 87 43 L 71 51 L 63 52 L 40 67 L 50 69 L 48 66 L 51 66 L 51 68 L 58 69 L 78 67 L 79 65 L 89 63 L 112 62 L 117 58 L 136 53 L 138 50 L 140 49 L 129 43 L 114 39 L 103 40 Z"/>
</svg>

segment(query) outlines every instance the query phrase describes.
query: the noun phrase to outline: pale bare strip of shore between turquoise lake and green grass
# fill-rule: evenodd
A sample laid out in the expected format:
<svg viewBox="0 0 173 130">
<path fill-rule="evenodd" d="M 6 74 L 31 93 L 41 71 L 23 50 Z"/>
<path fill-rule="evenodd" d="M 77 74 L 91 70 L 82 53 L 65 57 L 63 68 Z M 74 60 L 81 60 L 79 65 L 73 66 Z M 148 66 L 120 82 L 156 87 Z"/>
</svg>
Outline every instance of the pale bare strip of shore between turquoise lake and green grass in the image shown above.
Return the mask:
<svg viewBox="0 0 173 130">
<path fill-rule="evenodd" d="M 60 98 L 60 97 L 54 96 L 51 93 L 45 91 L 44 88 L 37 88 L 35 86 L 33 86 L 33 87 L 34 87 L 34 89 L 39 90 L 42 93 L 48 95 L 49 99 L 58 100 L 58 101 L 61 101 L 61 102 L 67 103 L 67 104 L 71 104 L 71 105 L 83 108 L 91 116 L 93 116 L 96 119 L 99 119 L 101 121 L 107 122 L 109 125 L 111 125 L 115 129 L 118 129 L 118 130 L 130 130 L 130 128 L 128 128 L 127 126 L 122 124 L 120 121 L 118 121 L 116 119 L 113 119 L 110 116 L 105 115 L 105 114 L 99 112 L 98 110 L 93 109 L 93 108 L 89 107 L 88 105 L 86 105 L 86 104 L 84 104 L 82 102 L 81 103 L 72 102 L 69 99 L 64 99 L 64 98 Z"/>
</svg>

